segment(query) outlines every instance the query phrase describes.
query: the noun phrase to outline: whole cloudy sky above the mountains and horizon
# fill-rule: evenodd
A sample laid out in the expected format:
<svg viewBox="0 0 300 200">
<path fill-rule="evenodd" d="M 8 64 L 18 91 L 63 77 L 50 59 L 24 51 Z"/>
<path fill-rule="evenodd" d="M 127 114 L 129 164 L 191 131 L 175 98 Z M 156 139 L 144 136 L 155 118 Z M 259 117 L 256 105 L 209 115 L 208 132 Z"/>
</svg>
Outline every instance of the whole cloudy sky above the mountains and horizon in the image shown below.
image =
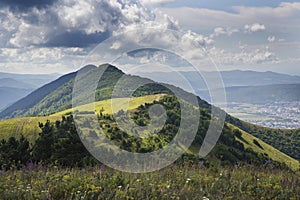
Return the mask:
<svg viewBox="0 0 300 200">
<path fill-rule="evenodd" d="M 107 49 L 123 55 L 146 38 L 147 52 L 127 52 L 115 63 L 130 70 L 159 61 L 191 70 L 189 62 L 215 70 L 210 62 L 218 70 L 300 75 L 297 1 L 0 0 L 0 24 L 1 72 L 68 73 L 89 60 L 106 61 L 99 57 Z"/>
</svg>

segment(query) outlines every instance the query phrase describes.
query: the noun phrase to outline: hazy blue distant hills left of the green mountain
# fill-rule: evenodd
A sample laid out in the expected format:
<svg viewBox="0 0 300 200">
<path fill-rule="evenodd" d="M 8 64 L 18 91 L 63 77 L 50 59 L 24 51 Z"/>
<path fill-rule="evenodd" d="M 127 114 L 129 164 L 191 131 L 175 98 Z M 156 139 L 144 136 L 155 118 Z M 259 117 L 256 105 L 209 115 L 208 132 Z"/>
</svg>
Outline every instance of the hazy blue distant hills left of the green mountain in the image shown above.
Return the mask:
<svg viewBox="0 0 300 200">
<path fill-rule="evenodd" d="M 0 72 L 0 111 L 35 89 L 56 79 L 59 74 L 13 74 Z"/>
</svg>

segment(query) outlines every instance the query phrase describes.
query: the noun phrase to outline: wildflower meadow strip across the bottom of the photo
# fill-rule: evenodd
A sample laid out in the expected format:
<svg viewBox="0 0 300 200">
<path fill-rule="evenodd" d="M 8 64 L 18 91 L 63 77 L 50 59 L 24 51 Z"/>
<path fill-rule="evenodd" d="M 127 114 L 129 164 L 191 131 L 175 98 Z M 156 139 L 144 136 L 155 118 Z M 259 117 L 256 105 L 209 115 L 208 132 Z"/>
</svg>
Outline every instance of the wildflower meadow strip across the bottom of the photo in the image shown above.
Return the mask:
<svg viewBox="0 0 300 200">
<path fill-rule="evenodd" d="M 272 166 L 172 165 L 147 174 L 29 164 L 0 174 L 2 199 L 299 199 L 300 176 Z"/>
</svg>

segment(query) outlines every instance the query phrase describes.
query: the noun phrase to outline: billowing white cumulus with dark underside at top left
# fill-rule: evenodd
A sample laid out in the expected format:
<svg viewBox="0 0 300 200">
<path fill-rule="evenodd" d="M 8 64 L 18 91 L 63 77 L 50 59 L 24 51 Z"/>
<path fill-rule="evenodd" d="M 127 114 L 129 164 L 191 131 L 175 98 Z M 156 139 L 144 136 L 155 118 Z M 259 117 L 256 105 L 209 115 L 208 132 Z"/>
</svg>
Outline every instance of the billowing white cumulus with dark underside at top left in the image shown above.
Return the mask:
<svg viewBox="0 0 300 200">
<path fill-rule="evenodd" d="M 0 19 L 6 24 L 2 27 L 6 33 L 2 41 L 8 39 L 15 47 L 85 47 L 152 17 L 138 1 L 57 0 L 51 1 L 51 6 L 48 3 L 49 6 L 38 8 L 32 2 L 26 12 L 2 9 Z"/>
</svg>

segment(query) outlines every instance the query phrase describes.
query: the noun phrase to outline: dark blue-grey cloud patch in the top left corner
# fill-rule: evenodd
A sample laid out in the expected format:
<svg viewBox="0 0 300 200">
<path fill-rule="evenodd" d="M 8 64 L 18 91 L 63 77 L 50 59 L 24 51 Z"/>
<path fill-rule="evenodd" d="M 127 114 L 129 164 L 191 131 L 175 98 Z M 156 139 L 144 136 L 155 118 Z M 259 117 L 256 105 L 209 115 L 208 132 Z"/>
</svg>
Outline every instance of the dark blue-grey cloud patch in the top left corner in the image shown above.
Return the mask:
<svg viewBox="0 0 300 200">
<path fill-rule="evenodd" d="M 28 10 L 32 7 L 43 8 L 58 0 L 0 0 L 0 6 L 8 6 L 13 11 Z"/>
</svg>

